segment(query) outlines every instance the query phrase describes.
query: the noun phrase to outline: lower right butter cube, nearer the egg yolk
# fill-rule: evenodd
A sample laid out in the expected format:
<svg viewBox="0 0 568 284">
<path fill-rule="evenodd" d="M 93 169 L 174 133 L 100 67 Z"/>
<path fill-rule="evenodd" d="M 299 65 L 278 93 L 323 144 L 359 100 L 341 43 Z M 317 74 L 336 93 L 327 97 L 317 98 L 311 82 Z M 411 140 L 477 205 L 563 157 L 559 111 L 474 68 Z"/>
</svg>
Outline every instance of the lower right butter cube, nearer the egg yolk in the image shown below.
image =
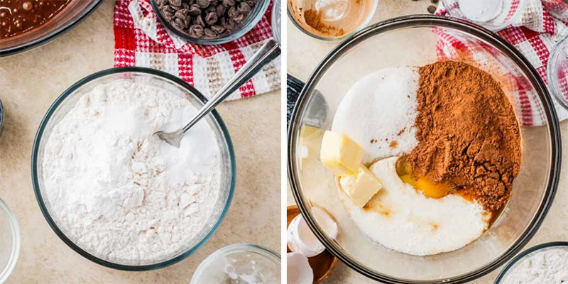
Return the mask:
<svg viewBox="0 0 568 284">
<path fill-rule="evenodd" d="M 364 207 L 383 188 L 381 181 L 365 165 L 361 165 L 353 175 L 340 178 L 339 185 L 359 207 Z"/>
</svg>

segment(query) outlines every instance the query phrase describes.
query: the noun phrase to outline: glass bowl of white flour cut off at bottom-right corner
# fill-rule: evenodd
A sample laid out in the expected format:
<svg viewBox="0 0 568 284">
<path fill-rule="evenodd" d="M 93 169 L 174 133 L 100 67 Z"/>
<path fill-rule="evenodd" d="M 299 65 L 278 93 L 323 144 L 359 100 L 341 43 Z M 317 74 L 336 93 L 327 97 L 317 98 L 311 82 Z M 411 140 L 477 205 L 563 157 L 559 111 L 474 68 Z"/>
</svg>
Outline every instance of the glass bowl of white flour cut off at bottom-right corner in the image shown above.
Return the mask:
<svg viewBox="0 0 568 284">
<path fill-rule="evenodd" d="M 503 268 L 495 283 L 568 283 L 568 242 L 540 244 L 519 253 Z"/>
</svg>

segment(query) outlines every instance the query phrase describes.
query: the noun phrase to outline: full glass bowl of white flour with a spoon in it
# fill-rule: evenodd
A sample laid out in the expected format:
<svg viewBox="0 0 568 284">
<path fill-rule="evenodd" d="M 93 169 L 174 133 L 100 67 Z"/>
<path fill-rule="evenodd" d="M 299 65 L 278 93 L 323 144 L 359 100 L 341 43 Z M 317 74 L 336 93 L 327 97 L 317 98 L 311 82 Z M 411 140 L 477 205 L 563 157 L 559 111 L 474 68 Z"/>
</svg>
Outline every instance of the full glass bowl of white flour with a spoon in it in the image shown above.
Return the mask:
<svg viewBox="0 0 568 284">
<path fill-rule="evenodd" d="M 55 234 L 95 263 L 130 271 L 197 251 L 231 204 L 229 132 L 212 111 L 180 148 L 153 133 L 184 125 L 204 102 L 178 77 L 141 67 L 97 72 L 63 92 L 32 154 L 35 196 Z"/>
</svg>

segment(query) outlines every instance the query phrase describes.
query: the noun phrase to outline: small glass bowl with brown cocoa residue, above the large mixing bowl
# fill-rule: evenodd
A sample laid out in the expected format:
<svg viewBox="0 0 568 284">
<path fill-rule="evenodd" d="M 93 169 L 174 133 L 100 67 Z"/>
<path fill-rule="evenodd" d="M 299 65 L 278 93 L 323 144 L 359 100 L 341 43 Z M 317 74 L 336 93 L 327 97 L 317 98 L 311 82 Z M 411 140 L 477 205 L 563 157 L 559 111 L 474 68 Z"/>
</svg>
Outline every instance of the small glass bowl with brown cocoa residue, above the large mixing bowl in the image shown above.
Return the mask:
<svg viewBox="0 0 568 284">
<path fill-rule="evenodd" d="M 313 38 L 341 40 L 367 26 L 377 5 L 378 0 L 288 0 L 288 17 Z"/>
</svg>

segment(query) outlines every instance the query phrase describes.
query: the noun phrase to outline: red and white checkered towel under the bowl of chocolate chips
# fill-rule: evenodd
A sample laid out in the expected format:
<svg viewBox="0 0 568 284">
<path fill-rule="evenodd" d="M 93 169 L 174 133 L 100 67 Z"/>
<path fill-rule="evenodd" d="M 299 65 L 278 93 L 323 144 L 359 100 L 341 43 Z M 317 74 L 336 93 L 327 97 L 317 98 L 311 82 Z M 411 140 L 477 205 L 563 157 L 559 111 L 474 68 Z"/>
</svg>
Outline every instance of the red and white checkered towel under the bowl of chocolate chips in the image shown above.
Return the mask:
<svg viewBox="0 0 568 284">
<path fill-rule="evenodd" d="M 114 66 L 163 70 L 189 82 L 210 98 L 272 38 L 271 6 L 261 21 L 241 38 L 222 45 L 196 45 L 166 31 L 149 0 L 116 0 Z M 228 99 L 251 97 L 274 89 L 280 89 L 280 59 L 266 65 Z"/>
</svg>

